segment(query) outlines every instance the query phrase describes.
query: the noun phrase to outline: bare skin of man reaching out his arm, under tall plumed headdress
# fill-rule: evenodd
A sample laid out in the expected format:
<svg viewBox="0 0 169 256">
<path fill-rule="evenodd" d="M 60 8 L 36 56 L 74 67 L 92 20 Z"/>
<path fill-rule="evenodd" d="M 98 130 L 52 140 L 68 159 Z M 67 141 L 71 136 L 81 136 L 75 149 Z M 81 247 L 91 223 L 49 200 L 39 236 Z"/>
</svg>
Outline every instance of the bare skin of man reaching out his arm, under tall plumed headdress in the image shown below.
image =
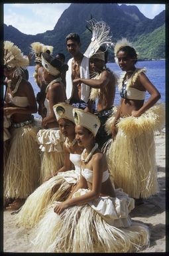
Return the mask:
<svg viewBox="0 0 169 256">
<path fill-rule="evenodd" d="M 99 88 L 97 111 L 109 109 L 113 106 L 115 99 L 115 76 L 109 70 L 103 70 L 105 62 L 100 59 L 91 58 L 89 64 L 91 71 L 101 73 L 101 77 L 99 79 L 74 79 L 74 84 L 83 82 L 91 88 Z"/>
</svg>

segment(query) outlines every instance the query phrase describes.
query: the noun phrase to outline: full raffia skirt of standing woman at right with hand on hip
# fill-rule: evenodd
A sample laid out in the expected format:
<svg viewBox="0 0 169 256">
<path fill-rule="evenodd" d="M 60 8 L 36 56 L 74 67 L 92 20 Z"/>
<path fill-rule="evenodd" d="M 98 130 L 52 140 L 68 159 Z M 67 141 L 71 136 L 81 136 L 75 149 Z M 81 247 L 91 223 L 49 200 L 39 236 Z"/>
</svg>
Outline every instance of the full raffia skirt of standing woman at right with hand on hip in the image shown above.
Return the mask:
<svg viewBox="0 0 169 256">
<path fill-rule="evenodd" d="M 109 126 L 112 120 L 108 121 Z M 107 150 L 115 188 L 123 188 L 135 198 L 147 198 L 158 192 L 154 131 L 163 126 L 163 104 L 153 106 L 138 118 L 119 120 L 117 136 Z"/>
</svg>

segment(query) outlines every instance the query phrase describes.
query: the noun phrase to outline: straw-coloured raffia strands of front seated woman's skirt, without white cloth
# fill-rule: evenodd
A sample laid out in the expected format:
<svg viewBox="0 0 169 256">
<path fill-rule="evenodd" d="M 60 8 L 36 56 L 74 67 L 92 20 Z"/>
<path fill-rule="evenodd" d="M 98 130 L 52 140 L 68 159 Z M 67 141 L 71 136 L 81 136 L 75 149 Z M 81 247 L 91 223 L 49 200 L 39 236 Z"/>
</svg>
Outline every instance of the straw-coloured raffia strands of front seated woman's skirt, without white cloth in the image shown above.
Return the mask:
<svg viewBox="0 0 169 256">
<path fill-rule="evenodd" d="M 126 253 L 148 245 L 149 231 L 141 223 L 133 222 L 127 228 L 114 227 L 87 204 L 69 207 L 57 215 L 56 203 L 48 207 L 33 230 L 32 244 L 36 252 Z"/>
</svg>

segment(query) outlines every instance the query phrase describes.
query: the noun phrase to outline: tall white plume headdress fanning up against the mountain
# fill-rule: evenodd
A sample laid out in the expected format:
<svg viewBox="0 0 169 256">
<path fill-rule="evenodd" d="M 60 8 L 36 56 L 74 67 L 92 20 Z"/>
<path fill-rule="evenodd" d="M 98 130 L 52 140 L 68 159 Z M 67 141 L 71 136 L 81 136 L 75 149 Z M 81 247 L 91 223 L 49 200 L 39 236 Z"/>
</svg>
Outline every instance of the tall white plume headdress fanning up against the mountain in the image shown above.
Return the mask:
<svg viewBox="0 0 169 256">
<path fill-rule="evenodd" d="M 108 47 L 113 47 L 113 42 L 111 41 L 112 35 L 110 33 L 110 27 L 104 21 L 96 21 L 95 19 L 91 19 L 88 21 L 92 31 L 91 43 L 89 44 L 87 50 L 84 55 L 87 58 L 90 58 L 94 55 L 99 47 L 105 45 Z"/>
</svg>

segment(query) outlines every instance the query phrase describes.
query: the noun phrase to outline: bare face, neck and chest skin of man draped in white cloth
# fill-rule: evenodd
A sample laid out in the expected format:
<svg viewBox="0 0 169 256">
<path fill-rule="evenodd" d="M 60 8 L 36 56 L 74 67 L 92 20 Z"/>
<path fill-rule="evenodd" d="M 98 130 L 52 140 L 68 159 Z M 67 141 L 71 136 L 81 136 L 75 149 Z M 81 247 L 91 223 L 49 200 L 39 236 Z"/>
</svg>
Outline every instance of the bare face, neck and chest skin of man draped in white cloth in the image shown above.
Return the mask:
<svg viewBox="0 0 169 256">
<path fill-rule="evenodd" d="M 72 61 L 72 80 L 76 78 L 80 78 L 80 64 L 82 63 L 82 59 L 84 55 L 80 52 L 80 43 L 69 39 L 67 41 L 67 50 L 72 55 L 74 60 Z M 77 64 L 76 64 L 77 63 Z M 72 99 L 80 100 L 81 97 L 81 83 L 74 84 L 73 82 L 73 92 Z"/>
</svg>

